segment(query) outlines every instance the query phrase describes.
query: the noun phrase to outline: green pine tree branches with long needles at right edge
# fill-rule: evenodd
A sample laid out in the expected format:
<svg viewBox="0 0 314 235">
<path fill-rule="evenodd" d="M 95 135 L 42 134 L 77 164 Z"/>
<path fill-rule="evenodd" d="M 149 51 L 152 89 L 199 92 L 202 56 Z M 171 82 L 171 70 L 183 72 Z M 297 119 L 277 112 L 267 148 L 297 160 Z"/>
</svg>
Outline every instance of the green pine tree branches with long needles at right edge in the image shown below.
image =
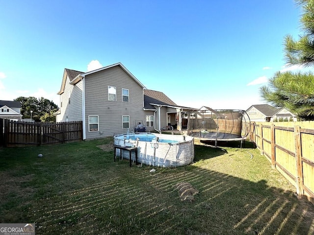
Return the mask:
<svg viewBox="0 0 314 235">
<path fill-rule="evenodd" d="M 285 37 L 285 59 L 289 66 L 314 66 L 314 0 L 297 0 L 303 10 L 304 34 L 299 40 Z M 314 74 L 276 72 L 269 85 L 261 87 L 262 97 L 277 107 L 285 107 L 299 118 L 314 120 Z"/>
</svg>

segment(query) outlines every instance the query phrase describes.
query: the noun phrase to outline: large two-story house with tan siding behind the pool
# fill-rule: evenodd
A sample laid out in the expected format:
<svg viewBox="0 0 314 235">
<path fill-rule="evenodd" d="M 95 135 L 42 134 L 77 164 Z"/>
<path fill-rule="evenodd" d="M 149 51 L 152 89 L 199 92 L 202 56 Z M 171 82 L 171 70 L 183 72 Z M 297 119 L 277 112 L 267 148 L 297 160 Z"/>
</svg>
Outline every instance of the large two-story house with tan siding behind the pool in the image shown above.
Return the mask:
<svg viewBox="0 0 314 235">
<path fill-rule="evenodd" d="M 132 131 L 143 122 L 147 131 L 160 131 L 168 123 L 182 126 L 192 108 L 177 106 L 165 94 L 147 90 L 121 63 L 80 72 L 65 69 L 56 121 L 83 122 L 83 139 Z"/>
</svg>

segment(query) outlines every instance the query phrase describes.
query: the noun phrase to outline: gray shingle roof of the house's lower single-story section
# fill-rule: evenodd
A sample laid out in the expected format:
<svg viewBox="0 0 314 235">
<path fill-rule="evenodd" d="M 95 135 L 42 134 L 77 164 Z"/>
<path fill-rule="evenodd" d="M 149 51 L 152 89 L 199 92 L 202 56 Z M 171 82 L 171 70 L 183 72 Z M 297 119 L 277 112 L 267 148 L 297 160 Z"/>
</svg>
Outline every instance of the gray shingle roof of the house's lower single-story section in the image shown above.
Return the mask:
<svg viewBox="0 0 314 235">
<path fill-rule="evenodd" d="M 153 90 L 144 90 L 144 108 L 156 109 L 151 104 L 177 106 L 167 95 Z"/>
</svg>

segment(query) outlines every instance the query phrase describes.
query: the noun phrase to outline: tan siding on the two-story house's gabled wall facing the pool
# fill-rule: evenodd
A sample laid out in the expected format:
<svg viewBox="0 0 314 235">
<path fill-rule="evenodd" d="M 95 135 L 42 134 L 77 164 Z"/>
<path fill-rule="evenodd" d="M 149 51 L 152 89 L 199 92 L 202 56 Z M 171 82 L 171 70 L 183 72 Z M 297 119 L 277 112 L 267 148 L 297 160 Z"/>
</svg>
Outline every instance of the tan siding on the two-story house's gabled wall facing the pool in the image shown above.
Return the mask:
<svg viewBox="0 0 314 235">
<path fill-rule="evenodd" d="M 108 101 L 108 86 L 116 88 L 116 101 Z M 122 102 L 122 89 L 129 90 L 129 102 Z M 134 120 L 145 121 L 143 110 L 143 88 L 120 66 L 85 76 L 86 139 L 113 136 L 127 132 L 123 129 L 122 116 L 130 116 L 130 128 Z M 90 132 L 88 116 L 99 116 L 99 131 Z"/>
</svg>

